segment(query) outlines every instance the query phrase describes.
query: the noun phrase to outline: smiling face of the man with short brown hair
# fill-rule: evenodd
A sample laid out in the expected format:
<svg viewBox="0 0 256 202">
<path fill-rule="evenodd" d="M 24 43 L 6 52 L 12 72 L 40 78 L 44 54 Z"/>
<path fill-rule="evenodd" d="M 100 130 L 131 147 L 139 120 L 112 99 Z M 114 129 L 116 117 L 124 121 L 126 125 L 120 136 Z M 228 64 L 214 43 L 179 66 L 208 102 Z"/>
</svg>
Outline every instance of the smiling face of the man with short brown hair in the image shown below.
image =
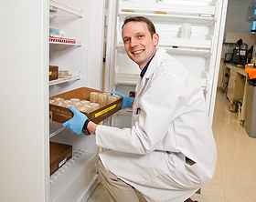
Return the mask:
<svg viewBox="0 0 256 202">
<path fill-rule="evenodd" d="M 146 23 L 132 21 L 123 26 L 122 37 L 127 55 L 143 70 L 155 54 L 159 36 L 152 38 Z"/>
</svg>

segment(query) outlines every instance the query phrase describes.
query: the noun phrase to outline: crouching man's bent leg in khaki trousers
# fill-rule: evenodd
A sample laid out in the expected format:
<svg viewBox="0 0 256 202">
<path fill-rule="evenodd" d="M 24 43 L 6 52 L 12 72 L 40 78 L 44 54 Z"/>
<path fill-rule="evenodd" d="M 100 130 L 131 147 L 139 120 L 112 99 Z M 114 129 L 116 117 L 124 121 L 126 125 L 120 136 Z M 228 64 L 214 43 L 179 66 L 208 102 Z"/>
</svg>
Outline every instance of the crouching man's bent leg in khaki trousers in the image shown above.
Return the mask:
<svg viewBox="0 0 256 202">
<path fill-rule="evenodd" d="M 111 202 L 139 202 L 135 189 L 108 171 L 103 166 L 100 158 L 97 166 L 105 187 L 108 190 Z"/>
</svg>

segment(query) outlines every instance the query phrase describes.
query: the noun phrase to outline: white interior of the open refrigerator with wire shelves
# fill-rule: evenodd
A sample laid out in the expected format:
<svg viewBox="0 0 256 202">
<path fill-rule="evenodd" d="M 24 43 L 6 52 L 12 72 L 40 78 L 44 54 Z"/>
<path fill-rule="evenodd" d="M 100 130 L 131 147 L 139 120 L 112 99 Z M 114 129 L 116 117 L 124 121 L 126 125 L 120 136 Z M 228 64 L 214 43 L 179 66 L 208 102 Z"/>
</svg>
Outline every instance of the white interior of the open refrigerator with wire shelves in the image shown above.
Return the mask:
<svg viewBox="0 0 256 202">
<path fill-rule="evenodd" d="M 103 0 L 49 0 L 49 97 L 82 86 L 101 90 L 105 5 Z M 76 98 L 76 97 L 73 97 Z M 95 136 L 72 134 L 50 121 L 49 141 L 72 146 L 72 157 L 49 177 L 51 201 L 85 201 L 98 183 Z"/>
</svg>

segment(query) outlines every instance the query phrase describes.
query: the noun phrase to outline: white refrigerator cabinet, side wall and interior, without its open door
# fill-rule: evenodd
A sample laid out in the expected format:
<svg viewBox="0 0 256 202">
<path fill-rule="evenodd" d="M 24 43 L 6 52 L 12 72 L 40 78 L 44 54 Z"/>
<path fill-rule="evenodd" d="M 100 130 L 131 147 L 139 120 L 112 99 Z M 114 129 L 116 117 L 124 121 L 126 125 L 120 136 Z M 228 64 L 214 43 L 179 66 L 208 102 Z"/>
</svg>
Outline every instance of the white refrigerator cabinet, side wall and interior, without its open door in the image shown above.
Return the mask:
<svg viewBox="0 0 256 202">
<path fill-rule="evenodd" d="M 85 201 L 97 185 L 95 136 L 77 136 L 49 123 L 48 97 L 80 86 L 101 89 L 105 1 L 57 0 L 83 17 L 61 9 L 49 15 L 50 2 L 0 3 L 0 201 Z M 49 27 L 63 30 L 82 45 L 49 44 Z M 80 79 L 49 86 L 49 65 L 67 68 Z M 49 137 L 54 131 L 59 133 Z M 52 184 L 49 140 L 84 150 Z"/>
</svg>

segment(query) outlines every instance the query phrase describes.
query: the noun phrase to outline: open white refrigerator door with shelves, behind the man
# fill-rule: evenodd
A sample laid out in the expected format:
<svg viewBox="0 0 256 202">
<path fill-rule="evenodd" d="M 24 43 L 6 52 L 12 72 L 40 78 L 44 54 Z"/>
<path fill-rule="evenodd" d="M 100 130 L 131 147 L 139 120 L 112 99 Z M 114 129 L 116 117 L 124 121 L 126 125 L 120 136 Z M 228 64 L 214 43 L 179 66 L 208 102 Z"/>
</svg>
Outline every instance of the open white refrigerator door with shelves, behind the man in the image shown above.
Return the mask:
<svg viewBox="0 0 256 202">
<path fill-rule="evenodd" d="M 140 70 L 126 56 L 121 27 L 126 16 L 143 15 L 155 24 L 160 35 L 158 47 L 178 59 L 197 78 L 204 89 L 208 116 L 212 122 L 219 76 L 228 0 L 110 0 L 105 90 L 128 95 L 134 90 Z M 162 12 L 165 14 L 157 14 Z M 179 38 L 179 29 L 190 23 L 190 39 Z M 174 48 L 176 46 L 177 48 Z M 129 126 L 131 113 L 123 110 L 113 118 L 112 126 Z M 123 120 L 120 121 L 123 117 Z"/>
</svg>

